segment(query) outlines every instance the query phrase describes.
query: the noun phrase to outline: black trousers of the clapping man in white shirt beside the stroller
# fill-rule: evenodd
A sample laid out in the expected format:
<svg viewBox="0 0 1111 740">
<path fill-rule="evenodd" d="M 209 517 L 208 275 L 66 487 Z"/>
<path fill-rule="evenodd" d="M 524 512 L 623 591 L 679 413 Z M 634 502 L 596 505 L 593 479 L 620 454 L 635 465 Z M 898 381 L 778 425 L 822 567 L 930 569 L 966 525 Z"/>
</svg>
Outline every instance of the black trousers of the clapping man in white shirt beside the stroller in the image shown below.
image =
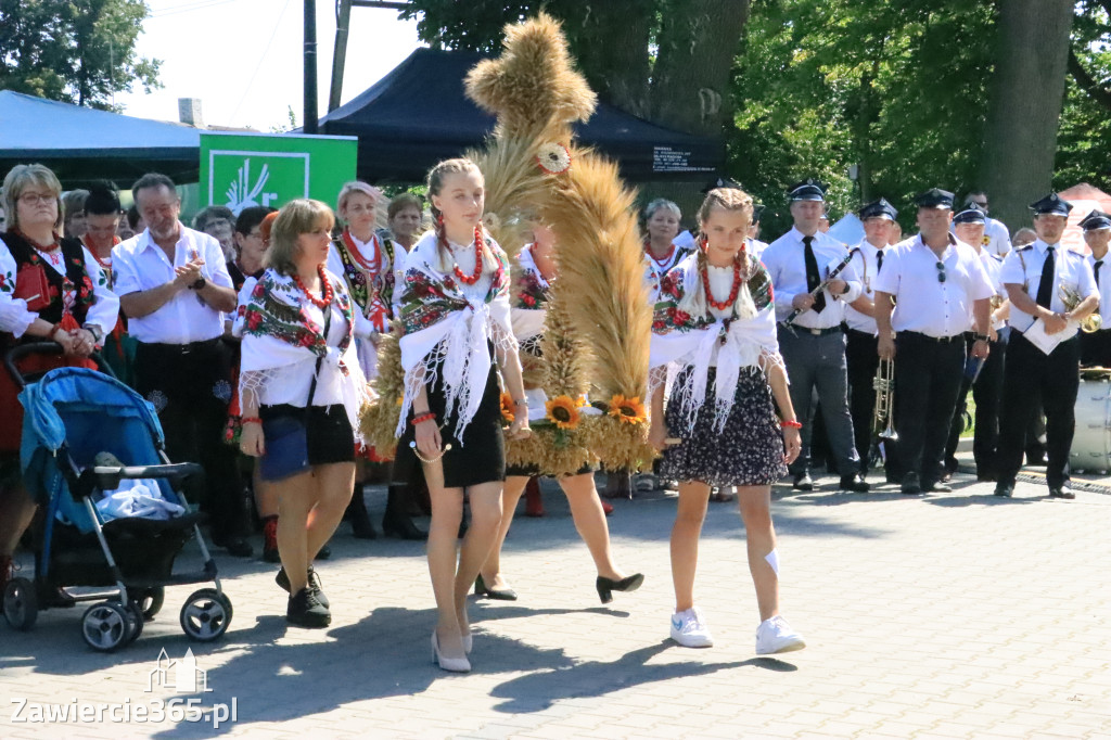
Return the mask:
<svg viewBox="0 0 1111 740">
<path fill-rule="evenodd" d="M 136 351 L 136 390 L 154 406 L 166 451 L 174 462 L 199 462 L 203 481 L 186 493 L 212 523 L 218 542 L 248 533 L 248 509 L 237 451 L 224 443 L 231 399 L 231 353 L 220 339 L 191 344 L 140 342 Z"/>
</svg>

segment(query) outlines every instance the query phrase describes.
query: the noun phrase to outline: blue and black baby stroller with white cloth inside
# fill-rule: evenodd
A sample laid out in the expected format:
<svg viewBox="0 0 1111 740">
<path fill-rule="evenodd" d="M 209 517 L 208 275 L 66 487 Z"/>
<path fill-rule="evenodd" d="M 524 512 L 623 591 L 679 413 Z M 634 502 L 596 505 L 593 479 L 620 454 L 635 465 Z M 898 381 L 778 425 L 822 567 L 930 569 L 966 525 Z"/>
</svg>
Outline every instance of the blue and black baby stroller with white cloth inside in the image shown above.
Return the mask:
<svg viewBox="0 0 1111 740">
<path fill-rule="evenodd" d="M 40 506 L 29 532 L 34 580 L 16 578 L 8 583 L 4 617 L 16 629 L 30 630 L 40 609 L 99 601 L 86 610 L 81 634 L 94 650 L 110 652 L 138 639 L 143 620 L 161 609 L 167 586 L 213 581 L 214 589 L 200 589 L 186 600 L 180 621 L 194 640 L 220 638 L 231 622 L 231 601 L 201 537 L 202 514 L 189 513 L 180 492 L 181 482 L 201 472 L 201 467 L 170 463 L 153 407 L 111 376 L 58 368 L 32 382 L 16 366 L 28 354 L 60 351 L 53 343 L 24 344 L 4 358 L 8 372 L 22 388 L 20 463 L 28 492 Z M 112 457 L 124 464 L 102 464 Z M 107 518 L 96 501 L 119 489 L 121 480 L 146 481 L 159 489 L 168 508 L 178 504 L 183 513 L 164 520 Z M 192 534 L 203 569 L 173 573 L 173 561 Z M 64 590 L 72 587 L 111 591 L 101 601 L 104 589 L 94 594 Z"/>
</svg>

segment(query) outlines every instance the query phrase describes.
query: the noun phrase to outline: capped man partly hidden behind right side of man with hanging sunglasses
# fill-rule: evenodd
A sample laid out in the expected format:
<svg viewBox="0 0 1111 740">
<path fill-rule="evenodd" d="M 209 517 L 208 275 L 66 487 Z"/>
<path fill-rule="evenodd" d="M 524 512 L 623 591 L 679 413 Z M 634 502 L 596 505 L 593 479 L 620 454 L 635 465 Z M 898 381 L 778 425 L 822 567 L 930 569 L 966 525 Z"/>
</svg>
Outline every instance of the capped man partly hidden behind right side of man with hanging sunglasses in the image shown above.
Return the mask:
<svg viewBox="0 0 1111 740">
<path fill-rule="evenodd" d="M 1010 307 L 1007 304 L 1005 291 L 1000 280 L 1003 260 L 988 251 L 989 239 L 984 234 L 987 216 L 970 201 L 964 210 L 953 217 L 953 232 L 957 239 L 969 244 L 980 256 L 995 294 L 991 299 L 991 328 L 988 330 L 991 339 L 988 343 L 988 359 L 982 364 L 970 362 L 964 369 L 957 413 L 953 414 L 953 423 L 949 429 L 949 443 L 945 446 L 944 480 L 957 472 L 957 446 L 964 430 L 964 412 L 968 409 L 970 389 L 975 401 L 975 438 L 972 440 L 972 457 L 975 459 L 977 480 L 993 481 L 998 477 L 995 452 L 999 448 L 999 402 L 1003 394 L 1003 361 L 1007 356 L 1004 330 Z M 972 352 L 974 343 L 975 337 L 972 332 L 965 333 L 964 344 L 968 353 Z"/>
</svg>

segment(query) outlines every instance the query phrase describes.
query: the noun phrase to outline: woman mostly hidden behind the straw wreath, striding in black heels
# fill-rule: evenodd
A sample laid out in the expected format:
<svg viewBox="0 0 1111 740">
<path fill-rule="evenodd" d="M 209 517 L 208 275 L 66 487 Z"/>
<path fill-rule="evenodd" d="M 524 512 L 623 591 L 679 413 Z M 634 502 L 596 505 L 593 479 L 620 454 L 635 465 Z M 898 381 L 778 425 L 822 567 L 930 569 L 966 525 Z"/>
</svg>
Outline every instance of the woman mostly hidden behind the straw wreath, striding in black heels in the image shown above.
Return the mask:
<svg viewBox="0 0 1111 740">
<path fill-rule="evenodd" d="M 540 340 L 544 330 L 546 303 L 551 282 L 556 279 L 554 234 L 548 226 L 533 227 L 533 243 L 527 244 L 518 254 L 520 271 L 516 278 L 512 306 L 513 332 L 521 347 L 521 354 L 541 360 Z M 548 397 L 542 389 L 526 391 L 529 400 L 529 419 L 541 420 L 548 414 Z M 491 598 L 516 599 L 512 589 L 507 588 L 501 577 L 501 548 L 513 523 L 513 512 L 524 491 L 524 486 L 534 476 L 552 474 L 541 464 L 511 464 L 507 470 L 506 489 L 502 493 L 502 521 L 490 556 L 476 583 L 476 592 L 486 592 Z M 634 591 L 644 577 L 641 573 L 624 576 L 613 562 L 610 553 L 610 532 L 605 524 L 602 502 L 594 488 L 594 472 L 588 464 L 573 476 L 559 479 L 560 488 L 571 504 L 574 527 L 590 550 L 598 569 L 595 587 L 602 603 L 609 603 L 612 591 Z"/>
</svg>

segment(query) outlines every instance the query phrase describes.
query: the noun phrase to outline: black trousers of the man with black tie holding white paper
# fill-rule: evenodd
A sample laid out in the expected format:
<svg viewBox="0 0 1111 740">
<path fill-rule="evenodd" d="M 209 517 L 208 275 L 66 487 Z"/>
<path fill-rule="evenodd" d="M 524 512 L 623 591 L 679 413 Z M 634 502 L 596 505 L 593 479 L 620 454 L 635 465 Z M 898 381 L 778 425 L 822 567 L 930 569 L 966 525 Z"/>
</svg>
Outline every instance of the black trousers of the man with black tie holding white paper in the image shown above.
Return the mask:
<svg viewBox="0 0 1111 740">
<path fill-rule="evenodd" d="M 1045 482 L 1059 488 L 1069 481 L 1069 450 L 1075 427 L 1077 391 L 1080 389 L 1080 340 L 1058 344 L 1045 354 L 1011 330 L 1003 371 L 1003 402 L 999 417 L 999 481 L 1014 483 L 1022 467 L 1027 429 L 1041 398 L 1045 411 Z"/>
</svg>

